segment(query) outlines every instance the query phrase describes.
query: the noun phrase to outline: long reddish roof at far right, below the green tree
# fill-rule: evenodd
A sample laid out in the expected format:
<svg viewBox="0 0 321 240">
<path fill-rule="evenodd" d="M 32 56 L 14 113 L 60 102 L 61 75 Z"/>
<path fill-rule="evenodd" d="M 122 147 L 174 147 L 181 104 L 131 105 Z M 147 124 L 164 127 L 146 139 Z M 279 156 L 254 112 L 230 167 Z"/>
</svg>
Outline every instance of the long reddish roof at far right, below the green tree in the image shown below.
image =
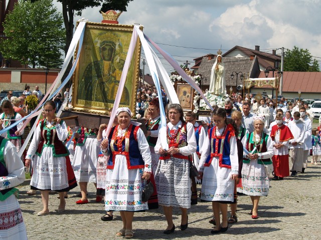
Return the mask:
<svg viewBox="0 0 321 240">
<path fill-rule="evenodd" d="M 265 77 L 264 71 L 261 71 L 259 77 Z M 268 77 L 272 77 L 272 71 L 269 72 Z M 284 71 L 282 90 L 283 92 L 297 92 L 299 90 L 301 92 L 321 92 L 321 72 Z"/>
</svg>

